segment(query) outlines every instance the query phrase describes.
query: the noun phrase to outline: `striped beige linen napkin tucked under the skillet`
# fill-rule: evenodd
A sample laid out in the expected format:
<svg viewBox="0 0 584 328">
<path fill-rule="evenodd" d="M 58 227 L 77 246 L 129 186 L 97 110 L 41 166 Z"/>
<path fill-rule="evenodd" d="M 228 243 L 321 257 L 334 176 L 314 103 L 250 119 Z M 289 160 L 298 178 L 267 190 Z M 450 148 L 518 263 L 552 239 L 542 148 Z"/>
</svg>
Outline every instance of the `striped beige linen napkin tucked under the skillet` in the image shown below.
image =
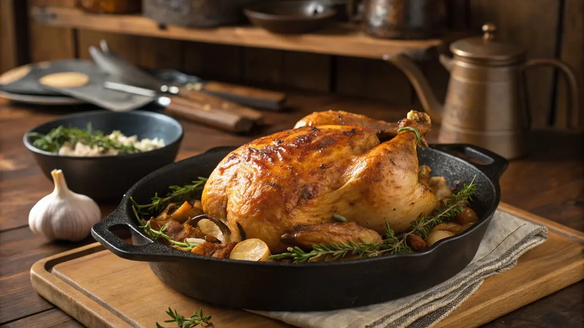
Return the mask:
<svg viewBox="0 0 584 328">
<path fill-rule="evenodd" d="M 545 239 L 545 226 L 496 211 L 471 263 L 436 287 L 360 308 L 324 312 L 251 312 L 303 328 L 432 327 L 477 291 L 486 277 L 514 267 L 523 253 Z"/>
</svg>

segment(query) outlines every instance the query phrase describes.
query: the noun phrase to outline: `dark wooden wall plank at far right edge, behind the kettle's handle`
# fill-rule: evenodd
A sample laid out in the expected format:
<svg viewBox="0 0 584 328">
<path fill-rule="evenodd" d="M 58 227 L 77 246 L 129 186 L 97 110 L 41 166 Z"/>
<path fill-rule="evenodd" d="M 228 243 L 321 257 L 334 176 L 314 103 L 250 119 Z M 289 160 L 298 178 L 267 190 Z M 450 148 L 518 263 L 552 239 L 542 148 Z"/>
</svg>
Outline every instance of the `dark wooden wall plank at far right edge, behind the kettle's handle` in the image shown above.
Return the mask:
<svg viewBox="0 0 584 328">
<path fill-rule="evenodd" d="M 565 0 L 562 16 L 561 59 L 572 66 L 579 79 L 580 108 L 570 118 L 580 129 L 584 128 L 584 1 Z M 568 93 L 564 77 L 559 74 L 557 85 L 557 102 L 555 126 L 566 127 L 568 120 Z"/>
</svg>

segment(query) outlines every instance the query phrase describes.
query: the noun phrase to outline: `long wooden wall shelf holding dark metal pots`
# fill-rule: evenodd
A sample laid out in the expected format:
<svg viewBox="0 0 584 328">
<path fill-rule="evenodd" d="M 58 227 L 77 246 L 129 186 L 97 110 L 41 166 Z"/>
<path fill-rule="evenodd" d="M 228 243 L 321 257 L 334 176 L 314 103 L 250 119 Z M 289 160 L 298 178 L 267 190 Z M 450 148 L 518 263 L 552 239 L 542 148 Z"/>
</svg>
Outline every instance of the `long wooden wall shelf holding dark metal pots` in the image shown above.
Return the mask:
<svg viewBox="0 0 584 328">
<path fill-rule="evenodd" d="M 385 54 L 398 53 L 409 54 L 413 57 L 423 56 L 430 48 L 440 46 L 461 35 L 450 34 L 444 39 L 431 40 L 384 40 L 367 36 L 356 26 L 339 23 L 319 33 L 283 36 L 254 26 L 213 29 L 182 26 L 161 28 L 157 22 L 142 16 L 92 15 L 72 8 L 33 7 L 30 13 L 37 22 L 51 26 L 376 59 Z"/>
</svg>

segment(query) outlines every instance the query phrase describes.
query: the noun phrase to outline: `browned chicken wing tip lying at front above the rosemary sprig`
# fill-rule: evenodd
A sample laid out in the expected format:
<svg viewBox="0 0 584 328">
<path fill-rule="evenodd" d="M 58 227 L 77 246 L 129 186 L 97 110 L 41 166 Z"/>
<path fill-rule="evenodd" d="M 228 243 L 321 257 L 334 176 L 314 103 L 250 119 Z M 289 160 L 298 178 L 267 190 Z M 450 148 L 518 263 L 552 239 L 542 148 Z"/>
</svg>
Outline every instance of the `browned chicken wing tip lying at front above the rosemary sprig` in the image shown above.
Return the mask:
<svg viewBox="0 0 584 328">
<path fill-rule="evenodd" d="M 329 243 L 380 243 L 379 233 L 363 228 L 355 222 L 336 222 L 312 225 L 299 225 L 292 231 L 284 233 L 281 242 L 303 249 L 312 249 L 314 245 L 328 245 Z"/>
</svg>

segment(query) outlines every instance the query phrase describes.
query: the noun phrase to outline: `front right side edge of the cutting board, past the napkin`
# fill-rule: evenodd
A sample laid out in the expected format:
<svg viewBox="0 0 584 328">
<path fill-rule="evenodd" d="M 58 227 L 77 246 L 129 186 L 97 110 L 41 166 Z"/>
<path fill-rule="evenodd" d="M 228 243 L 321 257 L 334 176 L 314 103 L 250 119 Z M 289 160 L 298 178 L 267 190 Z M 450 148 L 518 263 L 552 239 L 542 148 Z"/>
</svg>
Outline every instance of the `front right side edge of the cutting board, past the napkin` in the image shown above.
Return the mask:
<svg viewBox="0 0 584 328">
<path fill-rule="evenodd" d="M 540 245 L 541 246 L 541 245 Z M 511 268 L 510 270 L 513 270 Z M 519 289 L 512 289 L 505 294 L 497 295 L 490 299 L 482 306 L 475 306 L 457 316 L 447 316 L 438 324 L 436 328 L 471 328 L 478 327 L 482 324 L 491 322 L 496 318 L 522 308 L 531 302 L 535 302 L 544 296 L 557 292 L 569 285 L 584 279 L 584 258 L 572 263 L 569 266 L 562 267 L 561 270 L 555 270 L 549 274 L 543 275 L 536 280 L 522 285 Z M 479 288 L 480 289 L 480 288 Z M 505 300 L 507 306 L 501 307 L 500 302 Z M 477 315 L 477 312 L 489 313 L 488 316 Z M 489 319 L 484 319 L 485 317 Z M 461 325 L 461 323 L 464 323 Z"/>
</svg>

